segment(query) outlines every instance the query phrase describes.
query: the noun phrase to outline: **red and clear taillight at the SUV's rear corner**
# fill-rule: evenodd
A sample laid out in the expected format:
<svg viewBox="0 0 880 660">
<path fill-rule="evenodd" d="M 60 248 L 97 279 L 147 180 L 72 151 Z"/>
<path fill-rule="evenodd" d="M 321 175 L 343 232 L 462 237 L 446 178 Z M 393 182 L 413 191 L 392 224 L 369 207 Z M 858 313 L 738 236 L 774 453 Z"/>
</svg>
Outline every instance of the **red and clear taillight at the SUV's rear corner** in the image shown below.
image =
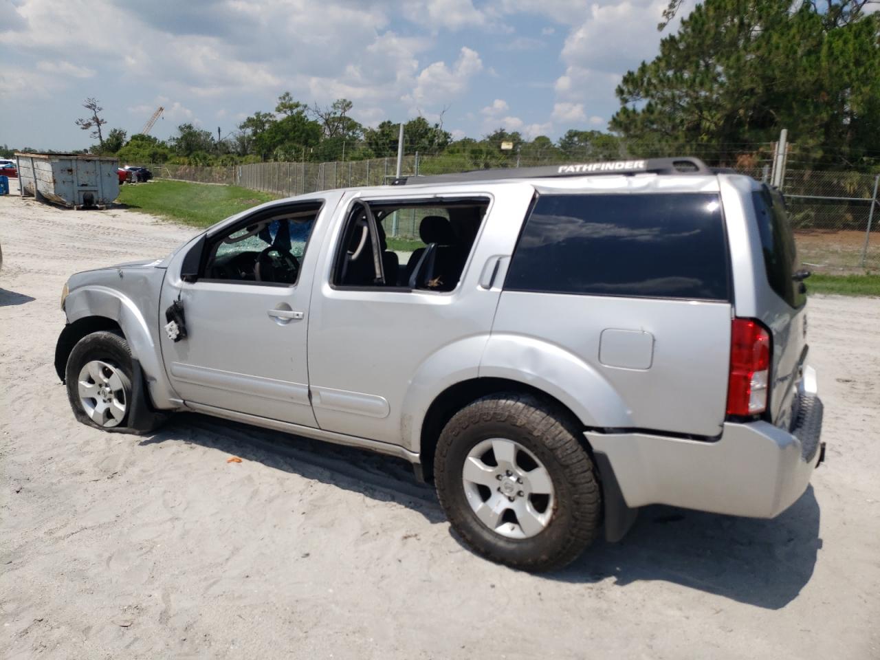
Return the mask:
<svg viewBox="0 0 880 660">
<path fill-rule="evenodd" d="M 770 335 L 757 321 L 733 319 L 727 414 L 761 414 L 767 407 Z"/>
</svg>

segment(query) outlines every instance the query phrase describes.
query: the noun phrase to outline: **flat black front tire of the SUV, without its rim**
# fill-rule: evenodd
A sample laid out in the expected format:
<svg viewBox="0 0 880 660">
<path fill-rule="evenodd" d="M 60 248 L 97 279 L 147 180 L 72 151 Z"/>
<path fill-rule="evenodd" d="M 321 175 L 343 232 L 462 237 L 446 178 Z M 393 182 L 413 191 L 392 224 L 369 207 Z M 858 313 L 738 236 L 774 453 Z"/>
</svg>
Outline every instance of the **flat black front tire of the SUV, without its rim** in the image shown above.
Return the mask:
<svg viewBox="0 0 880 660">
<path fill-rule="evenodd" d="M 87 414 L 80 400 L 78 391 L 79 372 L 86 363 L 92 360 L 100 360 L 111 364 L 119 371 L 125 391 L 126 411 L 124 416 L 115 427 L 106 429 L 92 421 Z M 67 358 L 67 367 L 65 369 L 65 382 L 67 384 L 67 397 L 70 400 L 70 407 L 73 408 L 73 414 L 79 422 L 83 422 L 87 426 L 96 429 L 124 429 L 128 425 L 128 418 L 132 408 L 132 368 L 131 368 L 131 349 L 128 348 L 128 341 L 120 334 L 102 330 L 97 333 L 86 334 L 81 340 L 77 341 L 76 346 L 70 351 Z"/>
</svg>

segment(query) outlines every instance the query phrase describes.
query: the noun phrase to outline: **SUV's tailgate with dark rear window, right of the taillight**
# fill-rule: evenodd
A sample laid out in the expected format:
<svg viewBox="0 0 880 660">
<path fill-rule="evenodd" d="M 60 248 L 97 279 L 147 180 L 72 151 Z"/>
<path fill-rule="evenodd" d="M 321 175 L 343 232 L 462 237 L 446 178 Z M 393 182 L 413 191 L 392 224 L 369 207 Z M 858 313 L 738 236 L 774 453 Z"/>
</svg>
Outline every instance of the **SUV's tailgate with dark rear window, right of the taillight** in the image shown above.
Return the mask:
<svg viewBox="0 0 880 660">
<path fill-rule="evenodd" d="M 760 319 L 773 334 L 770 414 L 788 426 L 794 385 L 806 357 L 806 288 L 796 279 L 795 236 L 782 195 L 764 186 L 752 193 L 758 221 L 766 287 L 760 293 Z"/>
</svg>

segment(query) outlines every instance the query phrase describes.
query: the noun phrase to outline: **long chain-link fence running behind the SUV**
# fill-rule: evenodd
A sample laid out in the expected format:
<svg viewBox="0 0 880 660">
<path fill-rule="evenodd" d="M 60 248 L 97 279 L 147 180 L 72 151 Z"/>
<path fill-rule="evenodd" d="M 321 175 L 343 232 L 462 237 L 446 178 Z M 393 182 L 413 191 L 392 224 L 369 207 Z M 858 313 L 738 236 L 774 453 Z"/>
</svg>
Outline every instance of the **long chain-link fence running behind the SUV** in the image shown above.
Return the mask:
<svg viewBox="0 0 880 660">
<path fill-rule="evenodd" d="M 586 155 L 585 159 L 590 158 Z M 532 166 L 570 162 L 572 158 L 520 158 L 506 154 L 492 165 Z M 461 172 L 463 159 L 448 154 L 405 156 L 402 176 Z M 396 158 L 337 161 L 330 163 L 256 163 L 202 167 L 196 165 L 150 165 L 157 178 L 225 184 L 260 190 L 282 197 L 313 193 L 336 187 L 378 186 L 394 178 Z M 769 181 L 768 159 L 741 162 L 734 168 L 758 180 Z M 781 192 L 796 232 L 798 253 L 810 268 L 825 271 L 880 269 L 880 175 L 860 172 L 818 172 L 788 169 Z M 421 217 L 389 220 L 385 230 L 392 237 L 417 238 Z"/>
</svg>

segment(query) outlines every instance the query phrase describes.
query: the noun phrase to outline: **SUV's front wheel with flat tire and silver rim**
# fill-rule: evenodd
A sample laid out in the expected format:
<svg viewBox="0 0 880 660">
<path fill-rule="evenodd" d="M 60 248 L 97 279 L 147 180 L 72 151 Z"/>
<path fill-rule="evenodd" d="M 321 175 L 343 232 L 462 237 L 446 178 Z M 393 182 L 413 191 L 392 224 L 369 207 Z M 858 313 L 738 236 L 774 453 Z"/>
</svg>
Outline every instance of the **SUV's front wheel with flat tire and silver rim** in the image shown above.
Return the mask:
<svg viewBox="0 0 880 660">
<path fill-rule="evenodd" d="M 85 335 L 70 351 L 66 382 L 77 420 L 99 429 L 124 427 L 131 396 L 131 351 L 119 334 Z"/>
</svg>

